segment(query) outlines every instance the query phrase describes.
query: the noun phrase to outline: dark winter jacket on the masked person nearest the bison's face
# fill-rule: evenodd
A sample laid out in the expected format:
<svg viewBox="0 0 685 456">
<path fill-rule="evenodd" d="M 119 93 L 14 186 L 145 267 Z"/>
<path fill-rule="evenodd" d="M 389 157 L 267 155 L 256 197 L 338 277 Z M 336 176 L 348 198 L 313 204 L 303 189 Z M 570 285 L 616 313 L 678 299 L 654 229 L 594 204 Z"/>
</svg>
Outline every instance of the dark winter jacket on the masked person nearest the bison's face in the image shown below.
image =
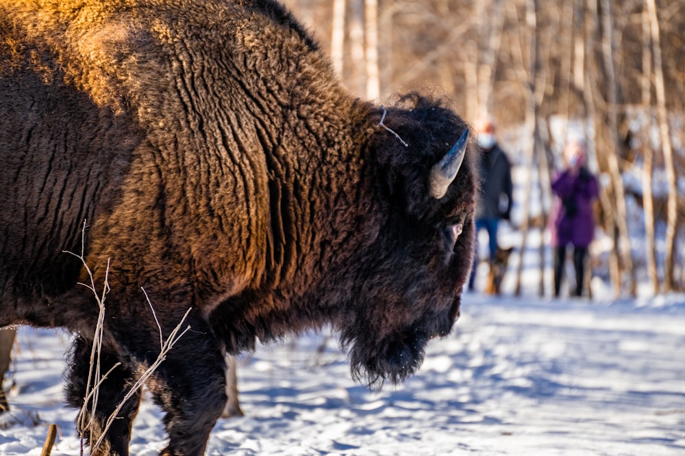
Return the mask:
<svg viewBox="0 0 685 456">
<path fill-rule="evenodd" d="M 495 144 L 480 156 L 481 188 L 475 209 L 476 219 L 509 219 L 512 207 L 511 165 Z"/>
</svg>

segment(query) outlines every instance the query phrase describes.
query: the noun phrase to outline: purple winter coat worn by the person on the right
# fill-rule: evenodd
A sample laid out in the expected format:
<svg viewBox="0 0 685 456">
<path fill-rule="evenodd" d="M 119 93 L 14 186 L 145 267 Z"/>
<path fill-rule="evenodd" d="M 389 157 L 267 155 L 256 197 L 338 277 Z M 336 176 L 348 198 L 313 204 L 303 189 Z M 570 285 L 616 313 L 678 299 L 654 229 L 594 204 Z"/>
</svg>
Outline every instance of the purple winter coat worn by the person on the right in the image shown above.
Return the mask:
<svg viewBox="0 0 685 456">
<path fill-rule="evenodd" d="M 555 198 L 551 217 L 552 245 L 587 247 L 595 234 L 593 200 L 599 196 L 597 179 L 582 167 L 577 175 L 564 170 L 552 182 Z"/>
</svg>

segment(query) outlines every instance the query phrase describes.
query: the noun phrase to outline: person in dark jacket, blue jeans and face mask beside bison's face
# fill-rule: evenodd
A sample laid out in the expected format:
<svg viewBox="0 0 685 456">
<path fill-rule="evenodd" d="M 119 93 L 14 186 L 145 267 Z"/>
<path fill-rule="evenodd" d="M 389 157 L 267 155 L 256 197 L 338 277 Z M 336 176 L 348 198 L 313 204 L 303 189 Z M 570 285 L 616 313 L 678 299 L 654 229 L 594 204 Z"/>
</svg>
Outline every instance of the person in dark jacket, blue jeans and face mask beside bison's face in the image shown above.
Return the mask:
<svg viewBox="0 0 685 456">
<path fill-rule="evenodd" d="M 512 207 L 511 165 L 506 154 L 497 145 L 495 122 L 490 118 L 480 121 L 478 145 L 482 150 L 479 159 L 481 187 L 475 209 L 476 239 L 481 230 L 488 232 L 490 262 L 497 252 L 497 228 L 500 219 L 510 219 Z M 473 259 L 469 289 L 473 290 L 478 255 Z"/>
</svg>

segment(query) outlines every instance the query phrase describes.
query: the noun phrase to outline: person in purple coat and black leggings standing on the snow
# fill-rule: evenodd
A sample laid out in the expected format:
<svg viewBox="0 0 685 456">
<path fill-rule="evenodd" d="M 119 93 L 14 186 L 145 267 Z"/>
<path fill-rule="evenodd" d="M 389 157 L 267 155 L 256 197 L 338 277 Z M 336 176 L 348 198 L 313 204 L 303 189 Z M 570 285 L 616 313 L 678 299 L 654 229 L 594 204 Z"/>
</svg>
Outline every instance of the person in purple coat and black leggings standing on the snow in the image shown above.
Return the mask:
<svg viewBox="0 0 685 456">
<path fill-rule="evenodd" d="M 556 196 L 551 217 L 551 242 L 554 248 L 554 296 L 559 296 L 563 278 L 566 247 L 573 245 L 575 267 L 574 296 L 583 293 L 588 246 L 595 234 L 593 202 L 599 196 L 597 179 L 585 166 L 587 149 L 584 142 L 569 142 L 564 150 L 567 167 L 552 181 Z"/>
</svg>

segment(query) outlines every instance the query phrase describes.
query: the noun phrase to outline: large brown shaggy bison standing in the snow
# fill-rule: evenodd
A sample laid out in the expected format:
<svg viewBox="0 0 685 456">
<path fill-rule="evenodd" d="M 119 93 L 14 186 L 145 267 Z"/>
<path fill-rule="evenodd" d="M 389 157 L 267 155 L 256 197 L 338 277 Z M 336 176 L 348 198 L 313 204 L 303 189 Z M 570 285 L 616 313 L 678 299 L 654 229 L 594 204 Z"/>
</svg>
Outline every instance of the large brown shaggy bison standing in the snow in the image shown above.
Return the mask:
<svg viewBox="0 0 685 456">
<path fill-rule="evenodd" d="M 275 0 L 2 1 L 0 327 L 71 330 L 80 407 L 98 306 L 65 252 L 108 274 L 99 362 L 121 366 L 79 429 L 92 444 L 157 322 L 166 337 L 192 309 L 147 382 L 163 455 L 203 454 L 224 353 L 256 338 L 329 324 L 353 377 L 401 381 L 451 331 L 473 258 L 473 152 L 448 103 L 351 96 Z M 128 454 L 139 401 L 97 453 Z"/>
</svg>

